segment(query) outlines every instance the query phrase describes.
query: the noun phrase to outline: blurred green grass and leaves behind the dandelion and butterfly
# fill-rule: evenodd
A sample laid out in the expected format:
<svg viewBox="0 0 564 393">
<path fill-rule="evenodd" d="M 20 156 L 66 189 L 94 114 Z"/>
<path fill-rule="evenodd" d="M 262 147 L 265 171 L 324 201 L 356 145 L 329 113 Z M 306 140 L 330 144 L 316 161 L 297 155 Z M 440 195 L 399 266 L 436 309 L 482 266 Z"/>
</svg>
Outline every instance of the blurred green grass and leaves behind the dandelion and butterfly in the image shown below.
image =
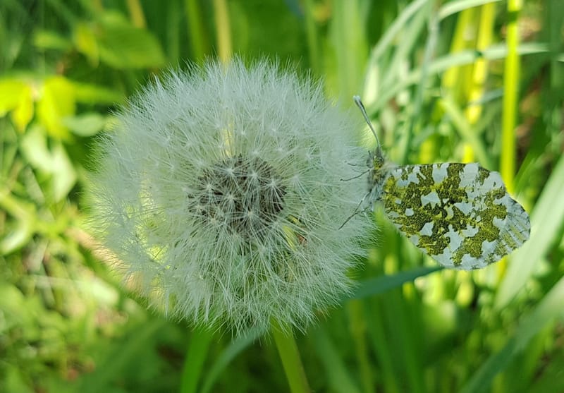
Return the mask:
<svg viewBox="0 0 564 393">
<path fill-rule="evenodd" d="M 478 161 L 531 214 L 525 246 L 472 273 L 422 270 L 376 217 L 366 291 L 298 336 L 312 389 L 564 392 L 563 21 L 561 0 L 2 0 L 0 392 L 288 390 L 271 339 L 146 310 L 84 224 L 112 110 L 233 54 L 362 95 L 393 161 Z"/>
</svg>

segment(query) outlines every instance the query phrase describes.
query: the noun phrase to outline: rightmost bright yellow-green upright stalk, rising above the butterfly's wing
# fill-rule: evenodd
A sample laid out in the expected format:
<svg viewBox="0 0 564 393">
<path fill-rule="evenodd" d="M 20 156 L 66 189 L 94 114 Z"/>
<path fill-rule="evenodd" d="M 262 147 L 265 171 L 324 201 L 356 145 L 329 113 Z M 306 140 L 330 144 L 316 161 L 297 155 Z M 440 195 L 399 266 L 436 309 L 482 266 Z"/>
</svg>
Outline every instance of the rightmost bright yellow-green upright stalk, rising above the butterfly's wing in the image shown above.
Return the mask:
<svg viewBox="0 0 564 393">
<path fill-rule="evenodd" d="M 505 181 L 508 191 L 514 191 L 515 176 L 515 118 L 517 116 L 517 100 L 519 99 L 520 83 L 520 57 L 519 32 L 517 22 L 522 1 L 509 0 L 507 25 L 507 58 L 505 59 L 505 72 L 503 73 L 503 116 L 501 134 L 501 177 Z"/>
</svg>

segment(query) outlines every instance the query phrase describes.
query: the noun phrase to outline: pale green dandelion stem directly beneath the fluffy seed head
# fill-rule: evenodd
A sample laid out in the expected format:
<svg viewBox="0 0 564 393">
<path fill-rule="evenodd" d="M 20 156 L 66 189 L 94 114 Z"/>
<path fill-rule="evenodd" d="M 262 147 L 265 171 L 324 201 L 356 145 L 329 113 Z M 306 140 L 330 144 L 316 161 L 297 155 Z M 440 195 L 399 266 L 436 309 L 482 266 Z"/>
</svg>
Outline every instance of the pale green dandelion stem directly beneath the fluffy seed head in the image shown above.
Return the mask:
<svg viewBox="0 0 564 393">
<path fill-rule="evenodd" d="M 289 327 L 281 327 L 278 322 L 272 323 L 272 335 L 280 355 L 286 379 L 292 393 L 309 393 L 309 384 L 305 376 L 304 366 L 300 359 L 298 345 Z"/>
</svg>

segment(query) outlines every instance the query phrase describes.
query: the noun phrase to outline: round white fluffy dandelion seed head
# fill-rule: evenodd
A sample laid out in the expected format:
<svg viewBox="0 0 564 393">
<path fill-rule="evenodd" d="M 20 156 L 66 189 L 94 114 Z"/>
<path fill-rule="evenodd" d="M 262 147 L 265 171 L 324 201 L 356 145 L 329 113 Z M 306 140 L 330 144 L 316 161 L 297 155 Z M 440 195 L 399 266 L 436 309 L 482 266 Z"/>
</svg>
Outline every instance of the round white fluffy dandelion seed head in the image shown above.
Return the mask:
<svg viewBox="0 0 564 393">
<path fill-rule="evenodd" d="M 209 62 L 133 98 L 92 178 L 104 246 L 154 305 L 236 334 L 303 329 L 348 290 L 369 220 L 357 121 L 277 64 Z"/>
</svg>

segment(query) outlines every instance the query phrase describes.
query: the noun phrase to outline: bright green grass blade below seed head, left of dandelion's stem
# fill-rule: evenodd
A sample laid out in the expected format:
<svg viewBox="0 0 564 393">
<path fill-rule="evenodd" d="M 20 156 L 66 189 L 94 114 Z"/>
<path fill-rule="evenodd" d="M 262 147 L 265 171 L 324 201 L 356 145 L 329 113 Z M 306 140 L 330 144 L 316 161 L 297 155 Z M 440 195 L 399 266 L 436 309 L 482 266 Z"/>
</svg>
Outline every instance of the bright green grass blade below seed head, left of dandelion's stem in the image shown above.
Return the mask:
<svg viewBox="0 0 564 393">
<path fill-rule="evenodd" d="M 195 329 L 190 338 L 182 371 L 180 393 L 197 392 L 200 373 L 206 360 L 213 334 L 207 329 Z"/>
</svg>

